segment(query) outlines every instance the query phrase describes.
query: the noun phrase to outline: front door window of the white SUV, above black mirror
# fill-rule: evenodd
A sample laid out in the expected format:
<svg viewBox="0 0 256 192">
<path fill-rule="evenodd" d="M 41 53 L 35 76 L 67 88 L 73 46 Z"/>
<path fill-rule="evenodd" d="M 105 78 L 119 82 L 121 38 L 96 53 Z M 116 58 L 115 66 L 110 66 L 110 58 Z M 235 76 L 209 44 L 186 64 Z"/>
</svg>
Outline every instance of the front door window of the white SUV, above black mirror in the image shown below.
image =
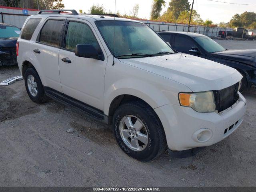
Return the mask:
<svg viewBox="0 0 256 192">
<path fill-rule="evenodd" d="M 84 23 L 70 21 L 68 23 L 65 48 L 74 51 L 77 44 L 90 44 L 100 51 L 98 41 L 90 27 Z"/>
</svg>

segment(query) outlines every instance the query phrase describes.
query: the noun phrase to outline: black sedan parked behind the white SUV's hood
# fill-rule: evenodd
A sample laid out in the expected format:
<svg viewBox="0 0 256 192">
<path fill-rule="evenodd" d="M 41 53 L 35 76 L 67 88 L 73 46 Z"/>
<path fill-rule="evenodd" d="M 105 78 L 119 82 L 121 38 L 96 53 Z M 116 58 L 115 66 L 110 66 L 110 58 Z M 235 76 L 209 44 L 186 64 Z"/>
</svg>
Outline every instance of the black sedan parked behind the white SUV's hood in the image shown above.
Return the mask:
<svg viewBox="0 0 256 192">
<path fill-rule="evenodd" d="M 178 52 L 206 58 L 238 70 L 243 78 L 242 92 L 256 85 L 256 49 L 227 50 L 211 38 L 191 32 L 159 32 Z"/>
</svg>

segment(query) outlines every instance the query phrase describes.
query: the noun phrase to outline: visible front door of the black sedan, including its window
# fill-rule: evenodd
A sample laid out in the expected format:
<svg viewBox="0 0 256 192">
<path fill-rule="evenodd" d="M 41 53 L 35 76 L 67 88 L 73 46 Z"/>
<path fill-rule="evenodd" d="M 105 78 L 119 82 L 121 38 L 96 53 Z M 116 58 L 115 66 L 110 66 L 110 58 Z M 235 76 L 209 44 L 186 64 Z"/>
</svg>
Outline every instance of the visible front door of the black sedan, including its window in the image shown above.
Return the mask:
<svg viewBox="0 0 256 192">
<path fill-rule="evenodd" d="M 200 48 L 198 48 L 198 50 L 201 52 L 200 54 L 190 52 L 189 50 L 191 48 L 198 48 L 196 42 L 191 37 L 180 34 L 176 34 L 174 36 L 174 49 L 176 51 L 202 58 L 207 58 L 206 54 L 204 54 L 204 51 L 200 50 Z"/>
</svg>

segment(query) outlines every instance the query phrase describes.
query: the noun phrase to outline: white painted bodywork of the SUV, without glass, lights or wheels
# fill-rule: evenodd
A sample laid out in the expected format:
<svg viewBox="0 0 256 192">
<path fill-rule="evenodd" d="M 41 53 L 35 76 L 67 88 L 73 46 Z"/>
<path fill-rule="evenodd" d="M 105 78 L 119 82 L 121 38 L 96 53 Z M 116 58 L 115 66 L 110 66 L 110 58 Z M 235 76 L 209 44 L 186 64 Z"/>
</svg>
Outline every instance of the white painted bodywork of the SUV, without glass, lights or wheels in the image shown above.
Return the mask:
<svg viewBox="0 0 256 192">
<path fill-rule="evenodd" d="M 60 92 L 63 90 L 65 94 L 102 110 L 106 115 L 109 114 L 110 105 L 117 96 L 129 94 L 141 98 L 160 118 L 171 150 L 186 150 L 214 144 L 233 132 L 242 122 L 246 100 L 241 94 L 236 106 L 222 114 L 199 113 L 192 108 L 180 106 L 178 101 L 179 92 L 220 90 L 236 84 L 242 76 L 233 68 L 182 53 L 148 58 L 114 58 L 112 65 L 113 56 L 95 24 L 95 20 L 104 18 L 90 15 L 66 15 L 66 18 L 79 20 L 92 28 L 104 53 L 104 61 L 78 58 L 74 52 L 62 49 L 58 53 L 58 50 L 45 45 L 40 45 L 40 50 L 44 53 L 40 58 L 32 50 L 36 48 L 34 44 L 42 23 L 50 16 L 53 15 L 30 16 L 29 18 L 41 17 L 42 21 L 30 41 L 18 39 L 20 70 L 22 71 L 24 61 L 31 62 L 44 86 Z M 64 57 L 70 58 L 72 63 L 62 62 L 61 58 Z M 224 136 L 224 130 L 236 121 L 238 124 Z M 192 139 L 192 134 L 200 128 L 212 131 L 212 137 L 207 142 L 199 143 Z"/>
</svg>

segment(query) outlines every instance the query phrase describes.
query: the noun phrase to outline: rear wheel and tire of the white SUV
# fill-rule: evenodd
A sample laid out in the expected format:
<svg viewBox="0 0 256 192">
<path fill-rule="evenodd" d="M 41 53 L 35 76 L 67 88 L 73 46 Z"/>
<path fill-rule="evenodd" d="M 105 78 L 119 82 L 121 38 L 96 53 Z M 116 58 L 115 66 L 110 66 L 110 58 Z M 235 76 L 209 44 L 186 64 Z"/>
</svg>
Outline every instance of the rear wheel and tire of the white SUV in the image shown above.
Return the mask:
<svg viewBox="0 0 256 192">
<path fill-rule="evenodd" d="M 44 87 L 34 68 L 27 68 L 25 71 L 25 86 L 30 99 L 36 103 L 44 103 L 49 100 L 44 92 Z"/>
</svg>

